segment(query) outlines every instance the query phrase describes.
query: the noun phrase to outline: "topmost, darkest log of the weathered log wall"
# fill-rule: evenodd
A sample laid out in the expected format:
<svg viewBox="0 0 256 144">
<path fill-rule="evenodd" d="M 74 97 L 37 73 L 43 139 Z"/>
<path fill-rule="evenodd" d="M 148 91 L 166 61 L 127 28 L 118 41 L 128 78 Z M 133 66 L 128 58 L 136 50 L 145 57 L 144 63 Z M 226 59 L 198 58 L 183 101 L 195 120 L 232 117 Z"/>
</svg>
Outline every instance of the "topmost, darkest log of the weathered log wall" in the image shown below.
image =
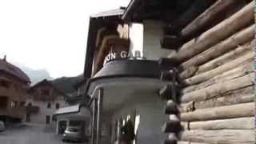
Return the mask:
<svg viewBox="0 0 256 144">
<path fill-rule="evenodd" d="M 211 26 L 215 19 L 218 19 L 223 12 L 225 13 L 225 11 L 230 8 L 230 6 L 237 4 L 238 2 L 239 1 L 236 0 L 218 0 L 182 30 L 182 37 L 190 38 L 191 35 L 195 35 L 201 30 L 206 29 L 206 27 Z"/>
</svg>

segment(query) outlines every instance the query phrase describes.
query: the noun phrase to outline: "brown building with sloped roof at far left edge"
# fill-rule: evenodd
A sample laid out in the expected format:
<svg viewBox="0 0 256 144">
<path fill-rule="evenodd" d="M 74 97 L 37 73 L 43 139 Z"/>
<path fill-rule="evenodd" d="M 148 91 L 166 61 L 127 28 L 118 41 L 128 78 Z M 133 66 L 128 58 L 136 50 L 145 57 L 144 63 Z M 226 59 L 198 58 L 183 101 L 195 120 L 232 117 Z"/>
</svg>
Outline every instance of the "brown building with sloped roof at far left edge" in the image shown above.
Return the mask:
<svg viewBox="0 0 256 144">
<path fill-rule="evenodd" d="M 17 66 L 0 59 L 0 120 L 21 122 L 26 115 L 26 90 L 30 78 Z"/>
</svg>

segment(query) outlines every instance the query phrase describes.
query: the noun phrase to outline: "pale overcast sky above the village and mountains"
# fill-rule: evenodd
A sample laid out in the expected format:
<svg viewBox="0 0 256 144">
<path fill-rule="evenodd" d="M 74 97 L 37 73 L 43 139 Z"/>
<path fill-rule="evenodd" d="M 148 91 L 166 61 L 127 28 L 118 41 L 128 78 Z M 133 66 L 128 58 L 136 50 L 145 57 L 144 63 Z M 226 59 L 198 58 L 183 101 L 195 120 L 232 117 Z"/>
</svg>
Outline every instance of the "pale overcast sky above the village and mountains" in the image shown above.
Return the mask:
<svg viewBox="0 0 256 144">
<path fill-rule="evenodd" d="M 130 0 L 1 0 L 0 57 L 51 77 L 82 74 L 90 14 Z"/>
</svg>

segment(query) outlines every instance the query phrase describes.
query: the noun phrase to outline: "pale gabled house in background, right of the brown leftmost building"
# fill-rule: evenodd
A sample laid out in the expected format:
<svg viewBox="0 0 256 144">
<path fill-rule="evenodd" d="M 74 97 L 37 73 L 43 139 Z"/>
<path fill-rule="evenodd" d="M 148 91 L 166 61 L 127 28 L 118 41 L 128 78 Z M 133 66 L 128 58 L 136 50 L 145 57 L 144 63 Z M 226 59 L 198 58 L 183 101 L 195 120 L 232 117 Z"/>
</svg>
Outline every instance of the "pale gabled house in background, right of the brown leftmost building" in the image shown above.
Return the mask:
<svg viewBox="0 0 256 144">
<path fill-rule="evenodd" d="M 44 79 L 31 86 L 26 99 L 26 122 L 50 124 L 54 122 L 54 112 L 66 104 L 66 94 Z"/>
</svg>

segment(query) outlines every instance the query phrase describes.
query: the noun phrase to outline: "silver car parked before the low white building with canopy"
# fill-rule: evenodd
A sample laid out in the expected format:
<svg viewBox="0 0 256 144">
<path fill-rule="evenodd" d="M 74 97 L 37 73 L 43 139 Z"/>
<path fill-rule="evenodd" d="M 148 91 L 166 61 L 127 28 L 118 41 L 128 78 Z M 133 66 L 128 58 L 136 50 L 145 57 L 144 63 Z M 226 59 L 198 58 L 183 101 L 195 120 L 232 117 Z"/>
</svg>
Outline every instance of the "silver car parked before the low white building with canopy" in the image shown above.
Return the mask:
<svg viewBox="0 0 256 144">
<path fill-rule="evenodd" d="M 72 142 L 84 142 L 86 141 L 85 134 L 81 127 L 78 126 L 70 126 L 67 127 L 64 131 L 63 142 L 72 141 Z"/>
</svg>

